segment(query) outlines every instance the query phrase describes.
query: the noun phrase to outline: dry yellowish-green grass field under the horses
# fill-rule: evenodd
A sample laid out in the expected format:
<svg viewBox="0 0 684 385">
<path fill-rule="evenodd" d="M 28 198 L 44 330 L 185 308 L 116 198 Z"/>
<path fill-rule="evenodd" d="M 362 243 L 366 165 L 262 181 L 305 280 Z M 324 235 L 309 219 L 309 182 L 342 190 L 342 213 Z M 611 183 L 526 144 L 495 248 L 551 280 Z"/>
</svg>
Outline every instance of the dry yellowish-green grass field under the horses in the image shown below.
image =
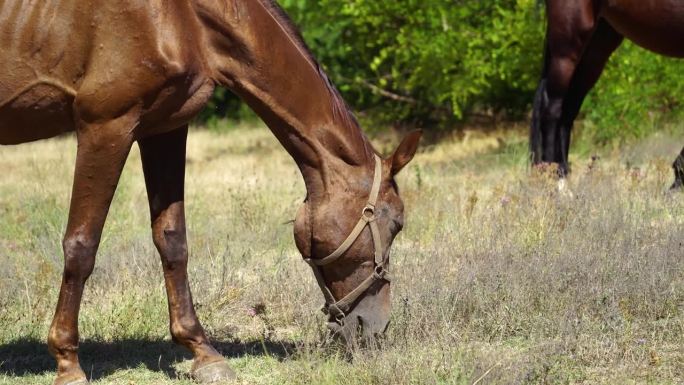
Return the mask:
<svg viewBox="0 0 684 385">
<path fill-rule="evenodd" d="M 396 138 L 376 143 L 388 153 Z M 199 316 L 240 384 L 682 384 L 684 196 L 665 194 L 678 144 L 580 151 L 572 194 L 528 170 L 520 134 L 425 145 L 399 178 L 388 336 L 350 359 L 324 346 L 322 296 L 294 247 L 293 162 L 266 129 L 193 132 Z M 74 156 L 72 138 L 0 148 L 0 384 L 53 379 Z M 139 164 L 134 149 L 86 287 L 83 367 L 95 385 L 190 384 Z"/>
</svg>

